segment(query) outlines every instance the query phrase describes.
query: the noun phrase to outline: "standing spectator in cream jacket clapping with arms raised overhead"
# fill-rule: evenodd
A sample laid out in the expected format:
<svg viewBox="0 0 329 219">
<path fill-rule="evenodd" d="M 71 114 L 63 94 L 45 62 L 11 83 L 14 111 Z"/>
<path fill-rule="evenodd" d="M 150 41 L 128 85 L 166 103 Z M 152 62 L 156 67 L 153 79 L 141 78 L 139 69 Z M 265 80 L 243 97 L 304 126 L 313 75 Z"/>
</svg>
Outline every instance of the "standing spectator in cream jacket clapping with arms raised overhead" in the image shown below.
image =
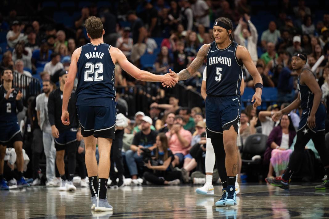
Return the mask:
<svg viewBox="0 0 329 219">
<path fill-rule="evenodd" d="M 256 63 L 258 60 L 258 55 L 257 55 L 258 33 L 254 24 L 251 23 L 250 16 L 248 14 L 244 14 L 244 19 L 247 21 L 247 25 L 250 31 L 247 28 L 242 29 L 242 26 L 244 25 L 245 22 L 241 17 L 239 20 L 239 24 L 234 31 L 234 38 L 237 41 L 237 43 L 239 43 L 241 46 L 245 46 L 248 49 L 252 61 Z"/>
</svg>

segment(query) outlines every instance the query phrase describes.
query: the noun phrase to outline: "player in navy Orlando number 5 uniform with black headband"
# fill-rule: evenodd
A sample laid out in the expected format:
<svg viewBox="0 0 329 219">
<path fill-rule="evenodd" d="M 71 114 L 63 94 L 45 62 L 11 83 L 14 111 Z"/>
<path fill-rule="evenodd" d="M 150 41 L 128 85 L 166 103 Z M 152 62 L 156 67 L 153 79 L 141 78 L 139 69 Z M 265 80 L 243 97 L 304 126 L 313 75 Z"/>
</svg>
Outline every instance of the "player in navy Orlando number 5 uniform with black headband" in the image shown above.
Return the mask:
<svg viewBox="0 0 329 219">
<path fill-rule="evenodd" d="M 240 123 L 240 84 L 243 64 L 253 77 L 256 92 L 253 107 L 261 105 L 263 81 L 248 50 L 233 41 L 232 21 L 215 20 L 215 41 L 203 45 L 190 66 L 173 75 L 186 80 L 207 59 L 206 123 L 207 136 L 214 147 L 217 170 L 223 185 L 222 198 L 216 206 L 236 205 L 235 182 L 238 170 L 237 133 Z M 171 73 L 172 71 L 169 70 Z M 222 137 L 222 139 L 221 139 Z"/>
</svg>

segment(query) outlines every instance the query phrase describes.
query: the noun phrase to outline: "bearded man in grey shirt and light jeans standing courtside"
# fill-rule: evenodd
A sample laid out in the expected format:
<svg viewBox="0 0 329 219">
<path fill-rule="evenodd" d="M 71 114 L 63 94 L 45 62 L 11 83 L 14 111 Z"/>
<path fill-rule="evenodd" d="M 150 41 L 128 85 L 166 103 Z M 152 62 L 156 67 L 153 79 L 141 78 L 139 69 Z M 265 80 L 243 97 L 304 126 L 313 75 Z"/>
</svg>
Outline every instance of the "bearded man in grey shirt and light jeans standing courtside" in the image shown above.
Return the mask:
<svg viewBox="0 0 329 219">
<path fill-rule="evenodd" d="M 39 94 L 36 98 L 36 110 L 39 121 L 40 129 L 42 130 L 42 141 L 44 153 L 46 155 L 46 177 L 47 186 L 59 186 L 60 181 L 55 177 L 55 158 L 56 149 L 54 138 L 51 134 L 51 127 L 48 117 L 48 98 L 52 91 L 50 81 L 42 82 L 43 93 Z"/>
</svg>

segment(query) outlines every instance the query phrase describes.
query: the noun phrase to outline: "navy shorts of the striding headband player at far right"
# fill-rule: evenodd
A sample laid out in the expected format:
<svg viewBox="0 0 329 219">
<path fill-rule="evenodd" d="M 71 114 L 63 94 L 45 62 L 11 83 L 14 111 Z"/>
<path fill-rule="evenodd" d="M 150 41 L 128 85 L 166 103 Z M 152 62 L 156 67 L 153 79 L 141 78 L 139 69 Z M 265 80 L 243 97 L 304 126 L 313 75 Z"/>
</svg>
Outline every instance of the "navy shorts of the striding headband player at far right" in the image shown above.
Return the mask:
<svg viewBox="0 0 329 219">
<path fill-rule="evenodd" d="M 313 133 L 321 132 L 321 131 L 325 130 L 326 108 L 324 107 L 324 105 L 322 103 L 320 103 L 319 107 L 316 110 L 316 113 L 315 113 L 316 127 L 314 129 L 310 129 L 307 125 L 307 119 L 308 119 L 310 113 L 311 113 L 311 109 L 303 110 L 297 132 L 303 131 L 303 132 L 306 132 L 305 134 L 307 134 L 308 130 L 310 130 Z"/>
</svg>

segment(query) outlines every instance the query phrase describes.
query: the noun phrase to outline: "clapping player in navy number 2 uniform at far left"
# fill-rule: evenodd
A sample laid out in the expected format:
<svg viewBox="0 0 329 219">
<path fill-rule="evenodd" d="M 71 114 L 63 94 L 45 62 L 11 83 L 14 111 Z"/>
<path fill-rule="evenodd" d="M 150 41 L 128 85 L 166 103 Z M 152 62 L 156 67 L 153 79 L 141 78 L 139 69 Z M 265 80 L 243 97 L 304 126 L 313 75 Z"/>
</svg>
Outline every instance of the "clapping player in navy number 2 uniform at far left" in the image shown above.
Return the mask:
<svg viewBox="0 0 329 219">
<path fill-rule="evenodd" d="M 11 142 L 17 155 L 18 170 L 17 186 L 27 187 L 23 178 L 23 137 L 17 121 L 16 109 L 23 110 L 22 93 L 13 85 L 13 70 L 5 69 L 1 73 L 3 84 L 0 85 L 0 190 L 9 187 L 3 178 L 4 158 L 7 145 Z"/>
</svg>

